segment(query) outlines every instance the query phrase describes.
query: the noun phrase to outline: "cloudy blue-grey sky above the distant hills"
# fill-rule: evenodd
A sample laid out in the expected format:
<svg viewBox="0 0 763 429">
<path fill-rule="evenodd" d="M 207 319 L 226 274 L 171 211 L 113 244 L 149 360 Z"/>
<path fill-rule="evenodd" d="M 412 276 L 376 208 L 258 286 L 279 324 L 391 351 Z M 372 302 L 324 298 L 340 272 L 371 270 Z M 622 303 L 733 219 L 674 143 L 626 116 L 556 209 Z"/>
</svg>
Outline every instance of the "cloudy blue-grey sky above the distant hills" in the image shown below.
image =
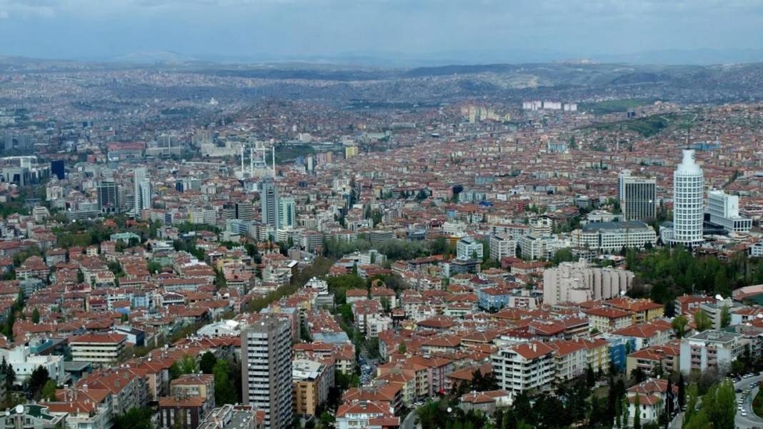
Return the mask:
<svg viewBox="0 0 763 429">
<path fill-rule="evenodd" d="M 0 55 L 40 58 L 511 62 L 516 51 L 581 58 L 761 45 L 761 0 L 0 0 Z"/>
</svg>

